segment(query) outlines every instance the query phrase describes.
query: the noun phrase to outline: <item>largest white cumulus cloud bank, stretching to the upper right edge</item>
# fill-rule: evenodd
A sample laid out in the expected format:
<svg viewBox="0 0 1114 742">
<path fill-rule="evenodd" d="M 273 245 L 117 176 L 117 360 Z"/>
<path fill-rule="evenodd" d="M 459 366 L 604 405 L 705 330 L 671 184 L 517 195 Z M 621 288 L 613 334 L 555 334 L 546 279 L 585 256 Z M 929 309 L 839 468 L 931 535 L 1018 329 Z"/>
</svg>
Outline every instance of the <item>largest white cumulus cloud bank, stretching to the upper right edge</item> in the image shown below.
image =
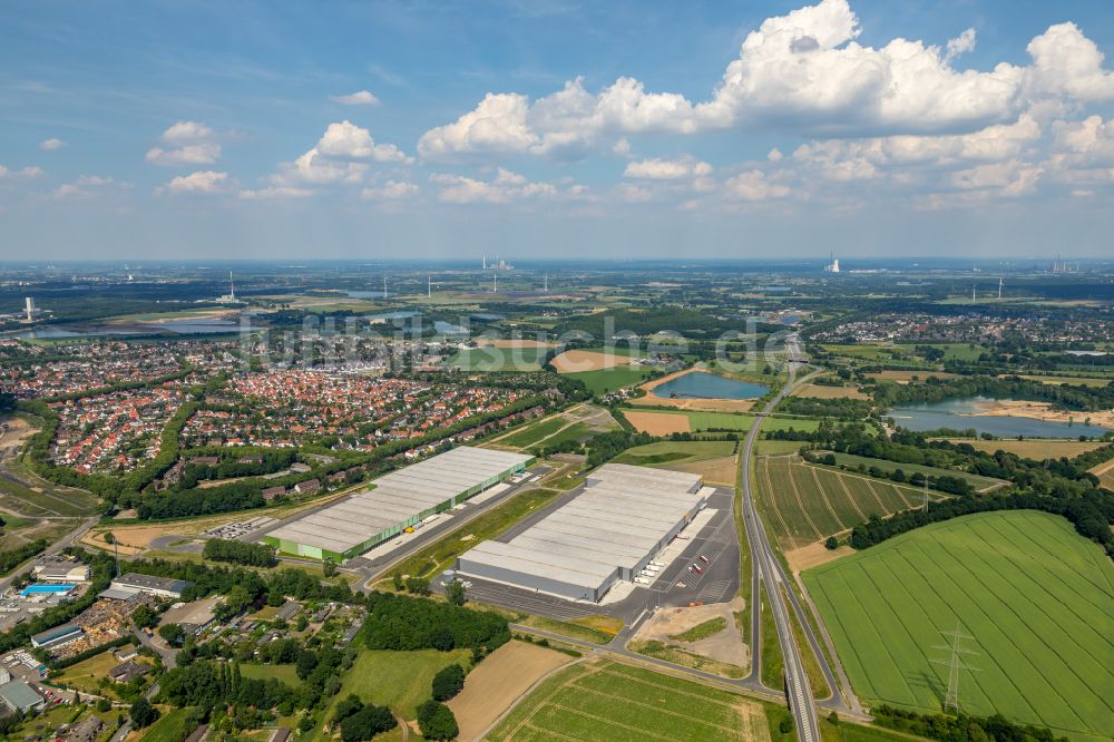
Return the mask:
<svg viewBox="0 0 1114 742">
<path fill-rule="evenodd" d="M 619 143 L 631 134 L 770 124 L 841 137 L 962 134 L 1016 120 L 1038 106 L 1114 99 L 1114 74 L 1073 23 L 1034 38 L 1030 65 L 1003 61 L 987 70 L 951 66 L 974 48 L 974 29 L 945 48 L 903 38 L 876 48 L 860 43 L 860 35 L 848 0 L 821 0 L 751 31 L 703 101 L 648 91 L 632 77 L 598 92 L 576 78 L 536 100 L 488 92 L 456 121 L 427 131 L 418 150 L 434 160 L 525 154 L 576 159 L 602 146 L 626 154 L 628 144 Z"/>
</svg>

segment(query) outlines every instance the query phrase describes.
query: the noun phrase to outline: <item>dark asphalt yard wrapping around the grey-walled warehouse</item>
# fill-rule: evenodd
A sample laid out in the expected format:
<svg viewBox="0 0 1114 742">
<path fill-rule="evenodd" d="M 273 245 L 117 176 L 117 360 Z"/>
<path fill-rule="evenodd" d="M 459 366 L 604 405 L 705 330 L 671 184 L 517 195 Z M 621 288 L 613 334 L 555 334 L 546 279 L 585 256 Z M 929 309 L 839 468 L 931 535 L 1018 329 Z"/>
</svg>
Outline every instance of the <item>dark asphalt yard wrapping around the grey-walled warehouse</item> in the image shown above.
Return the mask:
<svg viewBox="0 0 1114 742">
<path fill-rule="evenodd" d="M 563 495 L 544 511 L 531 515 L 527 520 L 541 519 L 554 508 L 559 507 L 563 500 L 567 501 L 567 499 L 575 497 L 577 491 L 578 489 L 570 490 L 567 497 Z M 732 490 L 716 488 L 707 498 L 709 508 L 715 510 L 709 523 L 698 533 L 691 534 L 687 530 L 683 533 L 682 536 L 690 537 L 690 543 L 681 555 L 666 565 L 654 584 L 636 585 L 631 594 L 622 601 L 596 605 L 462 576 L 463 579 L 471 583 L 471 587 L 468 588 L 468 597 L 478 603 L 487 603 L 559 621 L 571 621 L 592 614 L 605 614 L 620 618 L 627 625 L 635 623 L 644 612 L 653 611 L 658 606 L 686 606 L 696 601 L 704 603 L 730 601 L 739 589 L 739 534 L 735 530 L 732 516 Z M 521 531 L 528 525 L 519 524 L 511 530 Z M 507 534 L 504 534 L 499 540 L 508 540 Z M 709 564 L 700 560 L 702 555 L 709 559 Z M 704 574 L 690 570 L 688 567 L 692 564 L 698 564 Z M 432 587 L 437 590 L 443 590 L 439 582 Z"/>
</svg>

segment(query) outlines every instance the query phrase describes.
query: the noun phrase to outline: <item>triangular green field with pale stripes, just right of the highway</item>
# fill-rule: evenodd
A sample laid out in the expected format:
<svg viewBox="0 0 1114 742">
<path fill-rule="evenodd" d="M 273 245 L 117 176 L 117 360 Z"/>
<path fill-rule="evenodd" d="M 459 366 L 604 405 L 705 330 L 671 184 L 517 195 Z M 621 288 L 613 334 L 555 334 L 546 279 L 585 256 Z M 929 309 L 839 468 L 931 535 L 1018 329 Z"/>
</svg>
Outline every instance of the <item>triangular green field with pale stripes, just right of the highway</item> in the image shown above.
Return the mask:
<svg viewBox="0 0 1114 742">
<path fill-rule="evenodd" d="M 783 549 L 849 530 L 873 515 L 917 507 L 925 496 L 918 488 L 804 463 L 797 456 L 761 457 L 755 482 Z M 929 490 L 930 499 L 939 497 Z"/>
</svg>

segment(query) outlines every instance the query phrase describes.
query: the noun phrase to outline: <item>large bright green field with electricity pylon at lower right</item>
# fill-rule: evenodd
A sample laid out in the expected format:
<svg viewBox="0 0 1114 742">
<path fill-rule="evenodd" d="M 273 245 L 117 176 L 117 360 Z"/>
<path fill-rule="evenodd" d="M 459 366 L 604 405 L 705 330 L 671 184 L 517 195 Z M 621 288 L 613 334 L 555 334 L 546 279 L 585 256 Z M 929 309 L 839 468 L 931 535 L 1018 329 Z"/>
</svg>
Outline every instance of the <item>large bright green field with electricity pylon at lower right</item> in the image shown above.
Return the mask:
<svg viewBox="0 0 1114 742">
<path fill-rule="evenodd" d="M 1063 518 L 1029 510 L 934 524 L 804 573 L 856 692 L 940 711 L 958 624 L 981 672 L 960 675 L 965 711 L 1110 739 L 1114 566 Z"/>
</svg>

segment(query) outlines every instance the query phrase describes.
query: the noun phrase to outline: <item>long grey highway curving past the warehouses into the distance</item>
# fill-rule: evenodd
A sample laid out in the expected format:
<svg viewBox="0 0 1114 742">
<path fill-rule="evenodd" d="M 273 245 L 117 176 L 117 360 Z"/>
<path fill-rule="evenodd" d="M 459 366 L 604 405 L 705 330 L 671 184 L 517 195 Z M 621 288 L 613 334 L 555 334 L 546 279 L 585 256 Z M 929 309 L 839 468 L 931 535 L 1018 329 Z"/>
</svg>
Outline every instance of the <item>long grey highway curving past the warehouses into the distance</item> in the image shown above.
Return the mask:
<svg viewBox="0 0 1114 742">
<path fill-rule="evenodd" d="M 791 596 L 795 603 L 792 586 L 786 580 L 784 570 L 778 562 L 773 548 L 766 538 L 765 528 L 759 517 L 758 507 L 754 502 L 754 492 L 751 489 L 750 466 L 754 451 L 754 441 L 758 440 L 762 423 L 799 383 L 797 380 L 798 368 L 804 362 L 804 354 L 801 352 L 800 341 L 795 333 L 785 339 L 785 349 L 789 353 L 789 380 L 782 390 L 771 399 L 759 413 L 754 424 L 746 433 L 743 442 L 740 466 L 742 467 L 742 507 L 743 526 L 746 530 L 746 540 L 751 549 L 751 675 L 746 678 L 752 683 L 761 683 L 762 672 L 762 616 L 759 611 L 761 605 L 761 587 L 765 586 L 770 609 L 773 614 L 774 626 L 778 631 L 778 641 L 781 645 L 782 656 L 785 666 L 785 692 L 789 696 L 789 707 L 793 714 L 793 722 L 797 729 L 797 738 L 801 742 L 820 742 L 820 721 L 817 713 L 815 700 L 812 695 L 812 687 L 809 684 L 808 674 L 804 672 L 804 664 L 801 658 L 800 648 L 793 637 L 793 627 L 790 621 L 789 611 L 785 607 L 783 593 Z M 794 606 L 795 607 L 795 606 Z M 804 619 L 803 613 L 799 614 L 799 621 L 807 635 L 811 635 L 811 626 Z M 810 645 L 814 643 L 810 642 Z M 824 671 L 825 676 L 831 677 L 829 686 L 836 696 L 840 696 L 838 683 L 828 668 L 824 655 L 819 651 L 819 644 L 809 647 L 814 652 L 817 660 Z M 842 699 L 840 699 L 842 701 Z M 843 705 L 842 703 L 840 705 Z"/>
</svg>

